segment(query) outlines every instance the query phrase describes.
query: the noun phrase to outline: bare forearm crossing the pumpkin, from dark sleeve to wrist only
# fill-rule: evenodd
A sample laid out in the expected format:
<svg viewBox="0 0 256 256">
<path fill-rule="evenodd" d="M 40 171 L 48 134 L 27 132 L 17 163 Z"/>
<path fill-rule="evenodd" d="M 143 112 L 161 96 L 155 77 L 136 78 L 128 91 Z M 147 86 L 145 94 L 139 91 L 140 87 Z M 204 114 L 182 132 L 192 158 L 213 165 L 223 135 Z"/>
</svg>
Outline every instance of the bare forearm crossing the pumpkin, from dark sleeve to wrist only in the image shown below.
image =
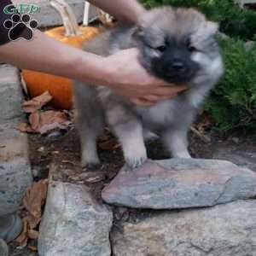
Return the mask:
<svg viewBox="0 0 256 256">
<path fill-rule="evenodd" d="M 75 49 L 35 31 L 31 41 L 19 40 L 0 46 L 0 61 L 20 68 L 94 82 L 102 72 L 102 57 Z"/>
</svg>

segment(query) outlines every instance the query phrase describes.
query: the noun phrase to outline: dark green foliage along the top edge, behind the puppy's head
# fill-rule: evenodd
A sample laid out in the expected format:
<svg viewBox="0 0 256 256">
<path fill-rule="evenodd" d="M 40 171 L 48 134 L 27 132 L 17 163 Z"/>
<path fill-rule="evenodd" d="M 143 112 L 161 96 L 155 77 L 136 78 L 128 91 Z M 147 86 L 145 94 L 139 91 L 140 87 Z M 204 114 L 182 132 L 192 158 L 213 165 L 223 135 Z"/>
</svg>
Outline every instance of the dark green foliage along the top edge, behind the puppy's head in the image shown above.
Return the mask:
<svg viewBox="0 0 256 256">
<path fill-rule="evenodd" d="M 141 0 L 148 7 L 172 5 L 179 7 L 195 7 L 207 15 L 210 20 L 217 21 L 221 32 L 231 37 L 253 39 L 256 32 L 256 13 L 241 9 L 233 0 Z"/>
</svg>

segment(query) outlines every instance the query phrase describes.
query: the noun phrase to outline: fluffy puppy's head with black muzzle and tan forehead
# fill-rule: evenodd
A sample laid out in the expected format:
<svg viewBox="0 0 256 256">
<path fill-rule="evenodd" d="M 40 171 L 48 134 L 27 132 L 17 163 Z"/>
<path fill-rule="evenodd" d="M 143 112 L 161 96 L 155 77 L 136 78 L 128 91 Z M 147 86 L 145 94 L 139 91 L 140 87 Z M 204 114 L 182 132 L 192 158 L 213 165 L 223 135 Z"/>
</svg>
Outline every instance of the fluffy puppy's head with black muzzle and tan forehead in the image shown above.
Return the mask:
<svg viewBox="0 0 256 256">
<path fill-rule="evenodd" d="M 143 66 L 172 83 L 190 82 L 219 57 L 218 25 L 195 9 L 153 9 L 143 15 L 135 36 Z"/>
</svg>

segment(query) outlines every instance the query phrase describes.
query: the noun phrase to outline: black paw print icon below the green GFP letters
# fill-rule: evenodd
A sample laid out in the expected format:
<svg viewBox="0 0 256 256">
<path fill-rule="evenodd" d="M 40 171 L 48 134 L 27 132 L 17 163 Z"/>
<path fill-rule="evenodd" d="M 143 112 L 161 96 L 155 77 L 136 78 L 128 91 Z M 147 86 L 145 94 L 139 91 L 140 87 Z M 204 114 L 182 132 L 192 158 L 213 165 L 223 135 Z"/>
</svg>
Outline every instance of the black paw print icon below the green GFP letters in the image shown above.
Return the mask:
<svg viewBox="0 0 256 256">
<path fill-rule="evenodd" d="M 31 20 L 30 15 L 15 14 L 12 15 L 10 20 L 5 20 L 3 26 L 9 30 L 9 39 L 11 41 L 20 38 L 31 40 L 33 38 L 32 30 L 38 27 L 38 21 Z"/>
</svg>

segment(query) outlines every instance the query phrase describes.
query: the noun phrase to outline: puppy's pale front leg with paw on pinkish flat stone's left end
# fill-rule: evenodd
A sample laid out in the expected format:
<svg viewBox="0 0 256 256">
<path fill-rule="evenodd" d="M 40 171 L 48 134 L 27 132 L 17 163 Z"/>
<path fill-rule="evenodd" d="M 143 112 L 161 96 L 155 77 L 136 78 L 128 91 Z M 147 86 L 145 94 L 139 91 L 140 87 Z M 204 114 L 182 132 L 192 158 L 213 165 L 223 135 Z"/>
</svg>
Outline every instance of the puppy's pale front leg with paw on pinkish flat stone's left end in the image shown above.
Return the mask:
<svg viewBox="0 0 256 256">
<path fill-rule="evenodd" d="M 125 162 L 131 169 L 147 160 L 143 141 L 143 127 L 137 116 L 123 106 L 115 106 L 107 113 L 108 124 L 122 145 Z"/>
</svg>

